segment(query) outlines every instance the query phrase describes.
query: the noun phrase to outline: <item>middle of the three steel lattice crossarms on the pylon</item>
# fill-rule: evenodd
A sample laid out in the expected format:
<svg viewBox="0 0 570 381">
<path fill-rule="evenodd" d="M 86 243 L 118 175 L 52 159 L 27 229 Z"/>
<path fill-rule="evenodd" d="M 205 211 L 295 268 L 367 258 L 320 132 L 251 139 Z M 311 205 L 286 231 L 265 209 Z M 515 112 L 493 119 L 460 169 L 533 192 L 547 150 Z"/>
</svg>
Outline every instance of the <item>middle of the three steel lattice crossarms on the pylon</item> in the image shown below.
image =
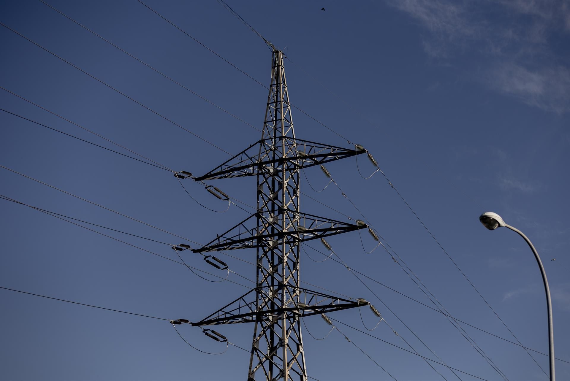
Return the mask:
<svg viewBox="0 0 570 381">
<path fill-rule="evenodd" d="M 258 218 L 263 226 L 258 229 Z M 280 226 L 280 220 L 284 219 L 287 225 L 286 230 L 280 231 L 272 229 Z M 356 224 L 345 223 L 337 220 L 295 212 L 288 209 L 281 209 L 278 215 L 265 215 L 261 212 L 255 213 L 230 230 L 218 235 L 216 239 L 210 241 L 201 248 L 192 249 L 195 253 L 257 248 L 278 243 L 281 239 L 287 243 L 295 244 L 304 241 L 324 238 L 331 235 L 355 231 L 367 228 L 367 224 L 356 221 Z"/>
</svg>

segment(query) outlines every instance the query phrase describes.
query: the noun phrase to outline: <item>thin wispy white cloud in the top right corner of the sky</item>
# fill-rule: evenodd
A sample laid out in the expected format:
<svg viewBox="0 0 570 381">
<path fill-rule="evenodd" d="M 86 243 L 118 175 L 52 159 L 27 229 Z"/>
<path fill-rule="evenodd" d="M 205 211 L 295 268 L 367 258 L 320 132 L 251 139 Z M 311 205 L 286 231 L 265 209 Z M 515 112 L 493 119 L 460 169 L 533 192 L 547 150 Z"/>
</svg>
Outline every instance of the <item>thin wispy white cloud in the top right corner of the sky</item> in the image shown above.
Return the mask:
<svg viewBox="0 0 570 381">
<path fill-rule="evenodd" d="M 469 49 L 486 58 L 478 79 L 488 87 L 549 112 L 570 111 L 570 68 L 549 44 L 570 35 L 570 0 L 386 1 L 429 31 L 422 45 L 432 58 Z"/>
</svg>

